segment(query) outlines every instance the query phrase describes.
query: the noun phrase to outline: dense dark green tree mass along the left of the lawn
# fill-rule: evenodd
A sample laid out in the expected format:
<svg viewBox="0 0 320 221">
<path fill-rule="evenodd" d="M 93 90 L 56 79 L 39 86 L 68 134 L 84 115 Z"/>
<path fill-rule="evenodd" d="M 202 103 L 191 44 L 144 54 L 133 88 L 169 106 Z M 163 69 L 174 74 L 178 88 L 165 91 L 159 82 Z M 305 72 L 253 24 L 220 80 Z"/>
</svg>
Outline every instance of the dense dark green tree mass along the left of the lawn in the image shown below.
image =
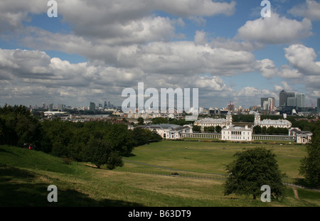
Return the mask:
<svg viewBox="0 0 320 221">
<path fill-rule="evenodd" d="M 122 156 L 135 146 L 161 141 L 155 131 L 113 122 L 69 122 L 61 119 L 39 122 L 25 106 L 0 107 L 0 144 L 23 147 L 33 144 L 38 151 L 54 156 L 89 161 L 98 168 L 122 166 Z"/>
</svg>

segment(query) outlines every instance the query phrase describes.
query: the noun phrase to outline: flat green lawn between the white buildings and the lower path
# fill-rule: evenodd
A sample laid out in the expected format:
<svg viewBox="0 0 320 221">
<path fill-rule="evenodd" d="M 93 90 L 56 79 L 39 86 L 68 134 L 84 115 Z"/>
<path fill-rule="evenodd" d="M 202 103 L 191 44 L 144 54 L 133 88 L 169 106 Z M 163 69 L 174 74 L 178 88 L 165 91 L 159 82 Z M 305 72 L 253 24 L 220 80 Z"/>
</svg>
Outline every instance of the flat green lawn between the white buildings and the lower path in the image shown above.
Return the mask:
<svg viewBox="0 0 320 221">
<path fill-rule="evenodd" d="M 277 156 L 282 173 L 292 180 L 299 176 L 300 159 L 306 154 L 302 145 L 275 145 L 275 144 L 234 144 L 219 142 L 194 141 L 162 141 L 159 143 L 139 146 L 134 149 L 135 156 L 125 159 L 124 168 L 139 168 L 146 171 L 169 171 L 130 161 L 145 163 L 153 166 L 174 168 L 176 170 L 192 171 L 197 173 L 225 174 L 225 164 L 233 161 L 233 155 L 244 148 L 264 146 Z"/>
</svg>

